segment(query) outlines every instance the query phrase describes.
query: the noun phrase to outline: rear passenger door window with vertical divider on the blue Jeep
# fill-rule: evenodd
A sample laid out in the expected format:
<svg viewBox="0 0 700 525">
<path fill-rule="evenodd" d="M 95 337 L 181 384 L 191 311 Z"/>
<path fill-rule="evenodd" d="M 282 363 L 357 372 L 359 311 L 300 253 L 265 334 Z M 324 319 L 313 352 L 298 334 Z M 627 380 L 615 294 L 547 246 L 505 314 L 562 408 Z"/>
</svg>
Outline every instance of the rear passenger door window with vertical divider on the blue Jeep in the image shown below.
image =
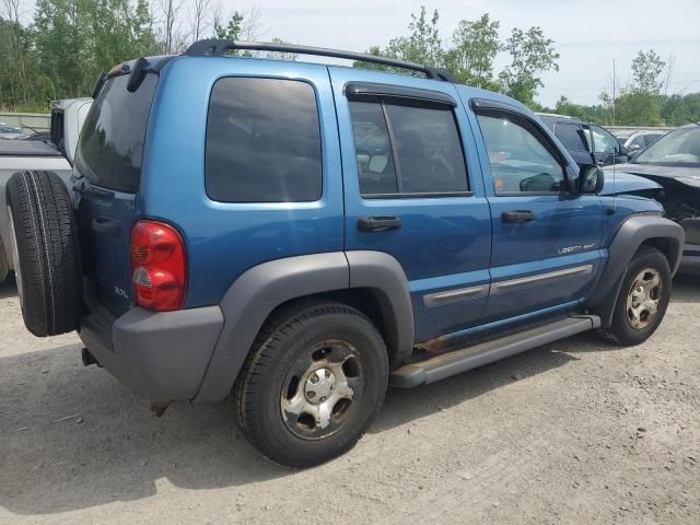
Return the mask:
<svg viewBox="0 0 700 525">
<path fill-rule="evenodd" d="M 352 101 L 350 115 L 362 195 L 468 190 L 451 108 Z"/>
</svg>

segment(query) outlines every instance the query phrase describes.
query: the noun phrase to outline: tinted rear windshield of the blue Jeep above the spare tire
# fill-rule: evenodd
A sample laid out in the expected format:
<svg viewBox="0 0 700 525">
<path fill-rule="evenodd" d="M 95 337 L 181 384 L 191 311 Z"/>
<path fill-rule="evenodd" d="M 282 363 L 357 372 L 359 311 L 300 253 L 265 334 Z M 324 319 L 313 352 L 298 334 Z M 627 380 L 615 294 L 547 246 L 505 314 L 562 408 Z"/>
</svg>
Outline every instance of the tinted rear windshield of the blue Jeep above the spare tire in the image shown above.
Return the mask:
<svg viewBox="0 0 700 525">
<path fill-rule="evenodd" d="M 78 167 L 91 183 L 137 192 L 141 178 L 145 128 L 158 77 L 147 74 L 135 93 L 127 91 L 128 75 L 108 80 L 85 118 Z"/>
</svg>

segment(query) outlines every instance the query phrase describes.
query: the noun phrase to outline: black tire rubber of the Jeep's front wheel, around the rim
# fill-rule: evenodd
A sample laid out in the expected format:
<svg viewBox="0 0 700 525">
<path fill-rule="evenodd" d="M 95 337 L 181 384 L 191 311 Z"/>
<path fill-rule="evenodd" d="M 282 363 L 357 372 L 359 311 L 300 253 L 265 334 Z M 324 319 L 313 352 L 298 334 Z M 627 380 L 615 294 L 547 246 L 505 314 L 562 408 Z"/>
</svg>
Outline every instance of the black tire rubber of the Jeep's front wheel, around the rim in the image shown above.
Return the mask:
<svg viewBox="0 0 700 525">
<path fill-rule="evenodd" d="M 661 281 L 661 290 L 656 290 L 657 307 L 653 316 L 644 319 L 643 327 L 634 327 L 631 314 L 628 311 L 628 298 L 633 292 L 633 285 L 640 272 L 650 269 L 655 271 Z M 598 334 L 605 340 L 620 346 L 634 346 L 644 342 L 651 337 L 666 314 L 670 301 L 672 275 L 668 259 L 658 249 L 652 246 L 642 246 L 630 261 L 622 285 L 615 304 L 612 323 L 608 328 L 599 328 Z"/>
</svg>

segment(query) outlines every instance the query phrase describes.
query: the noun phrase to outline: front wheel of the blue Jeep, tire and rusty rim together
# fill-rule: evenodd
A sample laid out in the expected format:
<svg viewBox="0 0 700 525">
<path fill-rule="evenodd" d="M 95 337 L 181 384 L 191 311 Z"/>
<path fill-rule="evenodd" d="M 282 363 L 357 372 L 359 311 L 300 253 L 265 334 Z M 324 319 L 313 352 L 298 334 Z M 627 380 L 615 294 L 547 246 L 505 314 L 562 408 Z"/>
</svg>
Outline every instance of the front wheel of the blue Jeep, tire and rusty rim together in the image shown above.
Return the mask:
<svg viewBox="0 0 700 525">
<path fill-rule="evenodd" d="M 670 300 L 670 268 L 658 249 L 642 246 L 622 278 L 612 323 L 598 332 L 622 346 L 644 342 L 664 318 Z"/>
</svg>

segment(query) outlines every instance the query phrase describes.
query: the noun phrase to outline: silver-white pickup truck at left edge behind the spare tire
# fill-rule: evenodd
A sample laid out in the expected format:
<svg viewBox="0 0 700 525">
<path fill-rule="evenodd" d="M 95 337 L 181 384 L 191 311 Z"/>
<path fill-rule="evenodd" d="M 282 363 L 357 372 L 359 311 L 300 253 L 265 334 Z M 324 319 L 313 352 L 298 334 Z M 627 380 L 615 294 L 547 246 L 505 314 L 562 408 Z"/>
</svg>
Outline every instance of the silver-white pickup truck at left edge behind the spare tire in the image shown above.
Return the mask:
<svg viewBox="0 0 700 525">
<path fill-rule="evenodd" d="M 10 250 L 10 222 L 5 206 L 5 185 L 19 170 L 48 170 L 67 186 L 78 136 L 92 98 L 70 98 L 51 105 L 50 135 L 21 135 L 16 140 L 0 141 L 0 281 L 14 269 Z"/>
</svg>

